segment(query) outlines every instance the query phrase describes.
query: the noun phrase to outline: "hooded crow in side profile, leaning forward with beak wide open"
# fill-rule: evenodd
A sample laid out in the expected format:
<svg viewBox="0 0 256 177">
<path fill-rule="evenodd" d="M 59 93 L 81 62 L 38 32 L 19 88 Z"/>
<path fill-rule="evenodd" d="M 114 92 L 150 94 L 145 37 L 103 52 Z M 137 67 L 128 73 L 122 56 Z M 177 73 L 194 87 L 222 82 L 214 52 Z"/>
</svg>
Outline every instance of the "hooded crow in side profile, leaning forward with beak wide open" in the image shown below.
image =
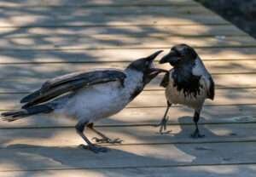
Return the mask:
<svg viewBox="0 0 256 177">
<path fill-rule="evenodd" d="M 147 83 L 164 71 L 153 65 L 155 57 L 161 52 L 131 62 L 124 71 L 105 69 L 74 72 L 50 79 L 37 91 L 20 100 L 25 105 L 19 111 L 3 112 L 3 120 L 11 122 L 40 113 L 74 117 L 78 120 L 76 131 L 87 143 L 82 147 L 94 152 L 107 151 L 104 147 L 93 145 L 84 135 L 84 128 L 90 128 L 102 137 L 96 138 L 97 142 L 120 143 L 98 132 L 93 123 L 123 110 Z"/>
</svg>

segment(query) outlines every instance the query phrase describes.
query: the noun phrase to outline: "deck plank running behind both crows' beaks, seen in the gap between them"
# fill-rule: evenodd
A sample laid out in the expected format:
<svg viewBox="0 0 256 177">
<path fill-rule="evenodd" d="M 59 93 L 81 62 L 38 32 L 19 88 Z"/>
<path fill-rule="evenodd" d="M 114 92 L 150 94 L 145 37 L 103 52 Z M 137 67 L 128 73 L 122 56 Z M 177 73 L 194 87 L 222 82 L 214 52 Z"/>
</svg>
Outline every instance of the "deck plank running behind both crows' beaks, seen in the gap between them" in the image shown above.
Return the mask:
<svg viewBox="0 0 256 177">
<path fill-rule="evenodd" d="M 241 73 L 255 73 L 256 74 L 256 60 L 205 60 L 207 69 L 213 75 L 236 74 Z M 49 79 L 52 77 L 61 76 L 73 71 L 90 71 L 96 68 L 119 68 L 125 69 L 130 62 L 105 62 L 105 63 L 44 63 L 44 64 L 25 64 L 25 65 L 0 65 L 1 76 L 3 80 L 22 80 L 35 79 L 34 82 L 43 83 L 42 79 Z M 169 64 L 158 65 L 166 70 L 170 70 L 172 66 Z M 215 76 L 214 76 L 215 77 Z M 216 76 L 217 77 L 217 76 Z M 247 76 L 250 78 L 250 76 Z M 34 83 L 33 82 L 33 83 Z M 160 81 L 157 81 L 160 82 Z M 216 82 L 218 83 L 218 82 Z M 6 83 L 5 83 L 6 84 Z M 1 83 L 0 83 L 1 85 Z"/>
</svg>

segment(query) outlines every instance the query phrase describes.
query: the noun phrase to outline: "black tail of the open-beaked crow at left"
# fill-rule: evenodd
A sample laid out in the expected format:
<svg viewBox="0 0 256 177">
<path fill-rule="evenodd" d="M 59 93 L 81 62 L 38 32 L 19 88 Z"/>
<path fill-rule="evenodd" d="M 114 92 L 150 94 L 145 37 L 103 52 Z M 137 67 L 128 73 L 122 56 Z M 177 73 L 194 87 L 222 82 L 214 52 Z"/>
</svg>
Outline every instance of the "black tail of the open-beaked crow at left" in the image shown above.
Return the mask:
<svg viewBox="0 0 256 177">
<path fill-rule="evenodd" d="M 28 107 L 26 109 L 22 109 L 18 111 L 3 112 L 1 115 L 3 117 L 2 118 L 3 121 L 12 122 L 23 117 L 29 117 L 39 113 L 49 113 L 51 111 L 53 111 L 53 108 L 51 108 L 50 106 L 39 105 L 39 106 Z"/>
</svg>

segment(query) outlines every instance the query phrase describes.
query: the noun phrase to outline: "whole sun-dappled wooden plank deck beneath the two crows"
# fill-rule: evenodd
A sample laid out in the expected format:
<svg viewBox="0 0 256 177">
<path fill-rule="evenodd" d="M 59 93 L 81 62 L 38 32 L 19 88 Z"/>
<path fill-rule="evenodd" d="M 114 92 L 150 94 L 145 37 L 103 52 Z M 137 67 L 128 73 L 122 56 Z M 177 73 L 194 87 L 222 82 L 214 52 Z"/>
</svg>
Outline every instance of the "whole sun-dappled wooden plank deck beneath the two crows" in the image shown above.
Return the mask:
<svg viewBox="0 0 256 177">
<path fill-rule="evenodd" d="M 73 120 L 1 122 L 0 176 L 254 177 L 256 41 L 191 0 L 0 1 L 0 110 L 18 108 L 47 78 L 124 68 L 176 43 L 195 47 L 217 83 L 216 100 L 201 115 L 206 138 L 189 138 L 193 111 L 182 106 L 169 112 L 172 133 L 157 134 L 152 125 L 166 106 L 158 77 L 124 111 L 96 124 L 124 140 L 106 145 L 108 153 L 80 149 Z"/>
</svg>

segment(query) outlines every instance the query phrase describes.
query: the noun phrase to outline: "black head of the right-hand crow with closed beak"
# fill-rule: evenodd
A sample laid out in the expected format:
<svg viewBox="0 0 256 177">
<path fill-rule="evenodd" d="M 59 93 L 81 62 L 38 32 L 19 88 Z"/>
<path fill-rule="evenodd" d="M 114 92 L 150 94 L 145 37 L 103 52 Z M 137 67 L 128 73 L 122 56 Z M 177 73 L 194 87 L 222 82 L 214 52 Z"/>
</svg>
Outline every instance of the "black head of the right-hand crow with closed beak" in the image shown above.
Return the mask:
<svg viewBox="0 0 256 177">
<path fill-rule="evenodd" d="M 169 62 L 172 66 L 180 66 L 186 63 L 194 62 L 197 58 L 195 49 L 187 44 L 178 44 L 172 47 L 169 54 L 166 54 L 160 64 Z"/>
</svg>

